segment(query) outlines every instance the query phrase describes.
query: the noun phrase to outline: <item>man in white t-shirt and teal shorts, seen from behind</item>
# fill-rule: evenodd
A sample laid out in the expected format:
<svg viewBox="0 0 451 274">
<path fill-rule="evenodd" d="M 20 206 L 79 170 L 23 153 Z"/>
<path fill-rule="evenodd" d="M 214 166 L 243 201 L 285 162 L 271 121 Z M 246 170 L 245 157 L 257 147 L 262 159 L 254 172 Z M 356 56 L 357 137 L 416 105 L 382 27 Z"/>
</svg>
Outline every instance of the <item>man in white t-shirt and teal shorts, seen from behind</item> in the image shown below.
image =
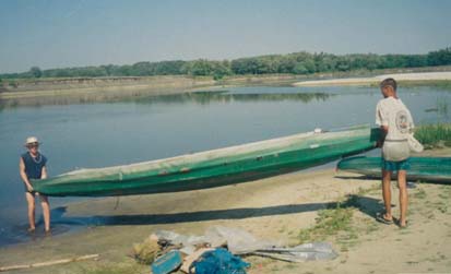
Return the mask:
<svg viewBox="0 0 451 274">
<path fill-rule="evenodd" d="M 397 172 L 397 186 L 400 189 L 400 219 L 399 226 L 406 227 L 407 213 L 407 187 L 406 174 L 410 168 L 408 134 L 414 128 L 411 112 L 396 95 L 396 81 L 385 79 L 380 83 L 383 95 L 376 107 L 376 123 L 382 131 L 382 196 L 385 213 L 378 214 L 377 221 L 392 224 L 391 211 L 391 177 Z"/>
</svg>

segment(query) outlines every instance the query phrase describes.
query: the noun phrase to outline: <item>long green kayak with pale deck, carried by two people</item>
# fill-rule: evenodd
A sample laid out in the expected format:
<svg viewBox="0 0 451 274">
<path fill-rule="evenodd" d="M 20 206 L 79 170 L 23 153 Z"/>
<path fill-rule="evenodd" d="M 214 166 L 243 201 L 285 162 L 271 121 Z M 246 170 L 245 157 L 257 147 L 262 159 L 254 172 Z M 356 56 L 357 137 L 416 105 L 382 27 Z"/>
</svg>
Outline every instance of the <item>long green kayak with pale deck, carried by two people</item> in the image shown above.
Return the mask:
<svg viewBox="0 0 451 274">
<path fill-rule="evenodd" d="M 175 192 L 238 183 L 308 168 L 375 147 L 379 130 L 308 132 L 128 166 L 79 169 L 33 182 L 54 196 Z"/>
</svg>

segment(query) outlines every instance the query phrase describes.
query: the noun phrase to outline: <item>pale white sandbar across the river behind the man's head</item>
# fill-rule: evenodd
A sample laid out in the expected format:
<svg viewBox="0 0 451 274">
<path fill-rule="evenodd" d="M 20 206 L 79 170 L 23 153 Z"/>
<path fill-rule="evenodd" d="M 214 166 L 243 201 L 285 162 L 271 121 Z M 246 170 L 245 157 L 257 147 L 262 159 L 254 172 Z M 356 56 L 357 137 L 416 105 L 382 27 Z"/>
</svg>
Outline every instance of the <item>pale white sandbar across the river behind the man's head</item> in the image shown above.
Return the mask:
<svg viewBox="0 0 451 274">
<path fill-rule="evenodd" d="M 451 80 L 451 72 L 415 72 L 415 73 L 391 73 L 372 78 L 345 78 L 318 81 L 296 82 L 294 86 L 329 86 L 329 85 L 371 85 L 380 81 L 393 78 L 396 81 L 443 81 Z"/>
</svg>

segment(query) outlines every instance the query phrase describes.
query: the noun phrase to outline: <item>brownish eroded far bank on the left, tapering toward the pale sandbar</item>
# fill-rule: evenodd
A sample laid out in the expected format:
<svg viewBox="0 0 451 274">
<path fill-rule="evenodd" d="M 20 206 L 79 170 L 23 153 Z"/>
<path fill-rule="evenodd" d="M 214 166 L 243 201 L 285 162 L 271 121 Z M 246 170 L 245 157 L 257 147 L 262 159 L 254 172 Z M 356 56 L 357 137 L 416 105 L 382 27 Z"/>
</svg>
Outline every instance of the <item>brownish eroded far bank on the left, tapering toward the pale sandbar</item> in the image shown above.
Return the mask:
<svg viewBox="0 0 451 274">
<path fill-rule="evenodd" d="M 0 86 L 0 99 L 100 94 L 116 94 L 123 97 L 163 95 L 236 85 L 289 84 L 297 79 L 298 76 L 292 74 L 270 74 L 232 76 L 226 80 L 187 75 L 21 80 L 15 83 L 15 86 Z"/>
</svg>

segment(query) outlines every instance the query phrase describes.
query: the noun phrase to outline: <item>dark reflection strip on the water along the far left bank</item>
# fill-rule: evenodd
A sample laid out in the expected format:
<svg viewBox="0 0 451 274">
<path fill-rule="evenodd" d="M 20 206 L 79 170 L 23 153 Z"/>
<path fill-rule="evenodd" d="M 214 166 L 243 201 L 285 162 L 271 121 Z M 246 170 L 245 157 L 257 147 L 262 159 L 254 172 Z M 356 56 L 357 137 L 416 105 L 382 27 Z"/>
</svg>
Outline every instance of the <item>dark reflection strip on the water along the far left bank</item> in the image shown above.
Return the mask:
<svg viewBox="0 0 451 274">
<path fill-rule="evenodd" d="M 0 111 L 7 108 L 21 106 L 40 107 L 45 105 L 78 105 L 94 103 L 131 102 L 138 104 L 186 104 L 195 103 L 207 105 L 210 103 L 232 103 L 232 102 L 281 102 L 299 100 L 309 103 L 311 100 L 327 100 L 332 94 L 327 93 L 228 93 L 221 92 L 193 92 L 170 95 L 143 96 L 134 94 L 127 97 L 115 93 L 83 94 L 80 96 L 39 96 L 29 98 L 0 99 Z"/>
</svg>

